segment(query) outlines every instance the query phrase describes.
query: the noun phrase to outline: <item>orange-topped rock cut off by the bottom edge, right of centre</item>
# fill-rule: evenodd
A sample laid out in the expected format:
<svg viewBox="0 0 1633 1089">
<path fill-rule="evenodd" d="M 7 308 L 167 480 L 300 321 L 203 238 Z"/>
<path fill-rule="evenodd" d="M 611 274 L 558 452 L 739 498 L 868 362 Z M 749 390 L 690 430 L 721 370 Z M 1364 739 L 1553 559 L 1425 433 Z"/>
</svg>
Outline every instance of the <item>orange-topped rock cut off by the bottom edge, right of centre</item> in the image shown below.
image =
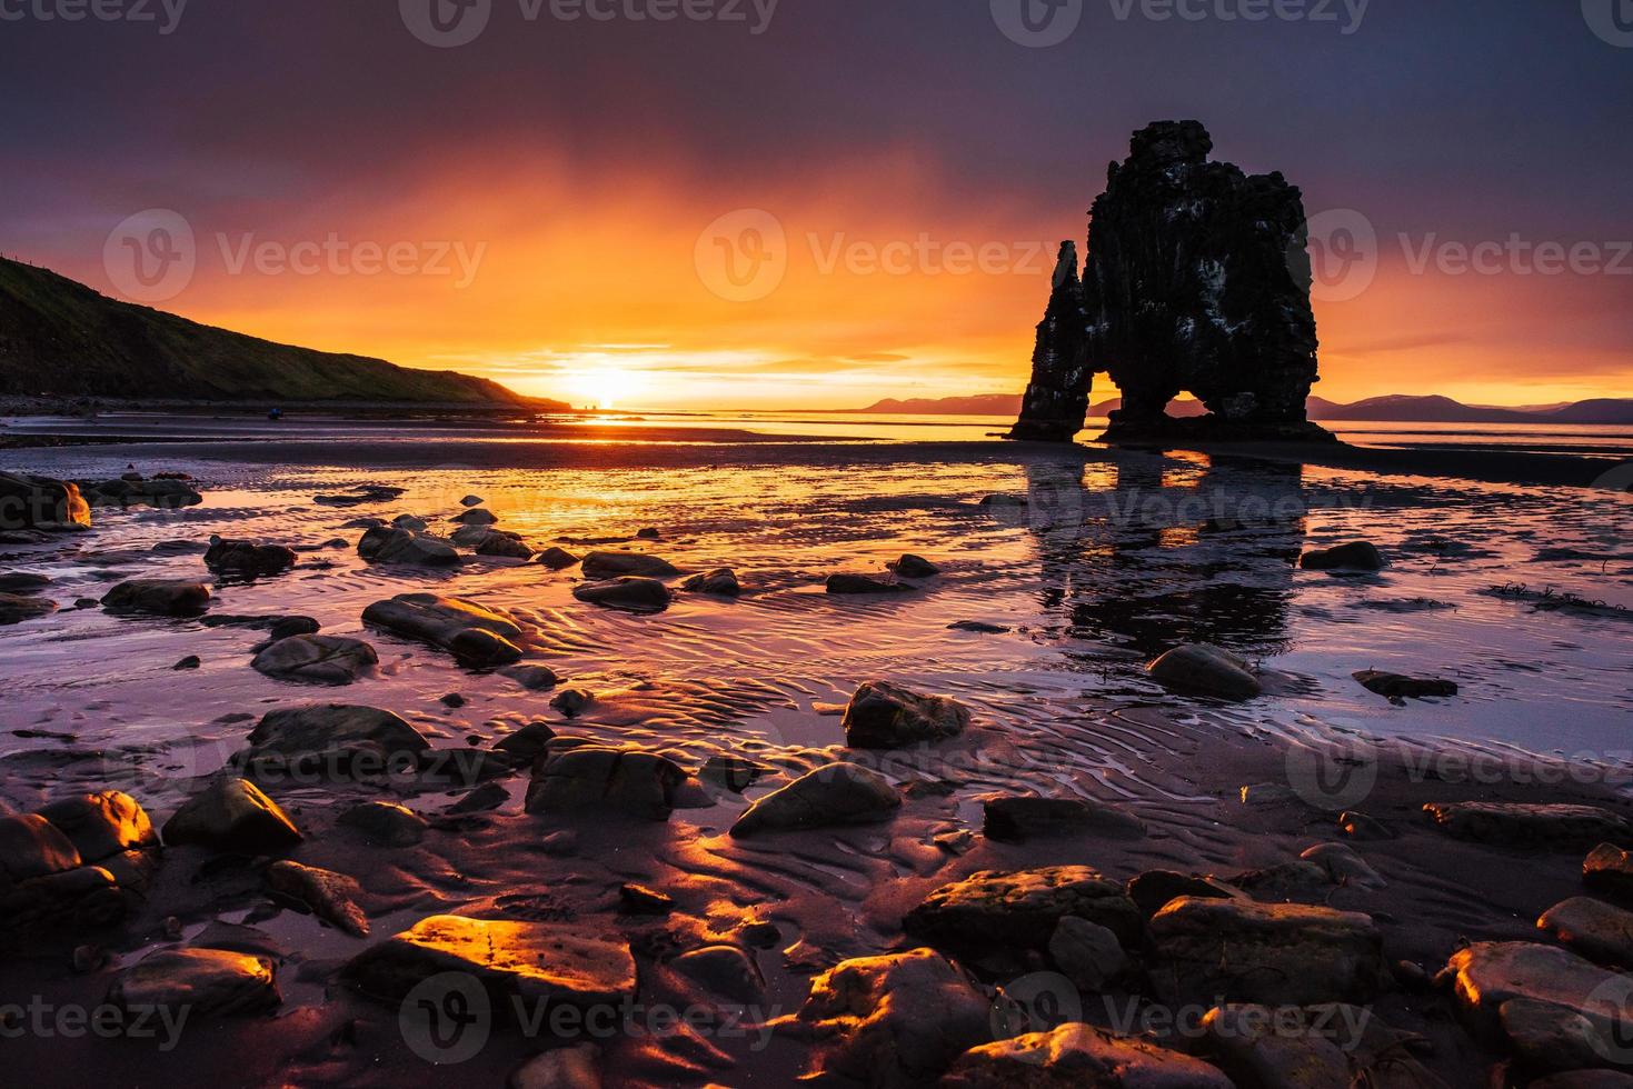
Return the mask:
<svg viewBox="0 0 1633 1089">
<path fill-rule="evenodd" d="M 1346 1082 L 1347 1084 L 1347 1082 Z M 1217 1066 L 1094 1025 L 1065 1024 L 963 1055 L 942 1089 L 1084 1086 L 1092 1089 L 1235 1089 Z"/>
</svg>

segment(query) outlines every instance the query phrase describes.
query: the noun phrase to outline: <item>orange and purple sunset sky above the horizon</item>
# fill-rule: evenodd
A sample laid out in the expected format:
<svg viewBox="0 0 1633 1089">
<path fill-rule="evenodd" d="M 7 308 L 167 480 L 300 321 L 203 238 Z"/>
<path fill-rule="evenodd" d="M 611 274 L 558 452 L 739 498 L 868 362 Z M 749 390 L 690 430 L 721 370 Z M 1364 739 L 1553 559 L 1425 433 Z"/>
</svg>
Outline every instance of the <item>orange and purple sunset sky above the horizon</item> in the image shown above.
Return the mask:
<svg viewBox="0 0 1633 1089">
<path fill-rule="evenodd" d="M 1106 163 L 1197 118 L 1377 237 L 1370 282 L 1318 291 L 1318 395 L 1633 393 L 1633 41 L 1594 0 L 1081 0 L 1048 47 L 1001 29 L 1022 0 L 475 0 L 475 41 L 433 47 L 431 2 L 5 0 L 0 251 L 129 297 L 109 235 L 167 209 L 196 271 L 162 309 L 575 403 L 1019 392 Z"/>
</svg>

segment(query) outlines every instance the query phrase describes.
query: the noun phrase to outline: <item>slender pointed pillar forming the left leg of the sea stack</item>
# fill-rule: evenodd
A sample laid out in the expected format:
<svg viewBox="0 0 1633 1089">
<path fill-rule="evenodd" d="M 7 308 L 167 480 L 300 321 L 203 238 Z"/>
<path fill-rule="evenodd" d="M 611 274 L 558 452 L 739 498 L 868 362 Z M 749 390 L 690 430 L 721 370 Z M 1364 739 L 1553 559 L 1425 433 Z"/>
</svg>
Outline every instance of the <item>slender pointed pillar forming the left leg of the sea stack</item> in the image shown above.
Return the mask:
<svg viewBox="0 0 1633 1089">
<path fill-rule="evenodd" d="M 1037 327 L 1037 348 L 1032 349 L 1032 384 L 1026 389 L 1011 439 L 1070 442 L 1083 429 L 1089 411 L 1094 371 L 1088 361 L 1089 333 L 1076 242 L 1060 243 L 1053 284 L 1048 310 Z"/>
</svg>

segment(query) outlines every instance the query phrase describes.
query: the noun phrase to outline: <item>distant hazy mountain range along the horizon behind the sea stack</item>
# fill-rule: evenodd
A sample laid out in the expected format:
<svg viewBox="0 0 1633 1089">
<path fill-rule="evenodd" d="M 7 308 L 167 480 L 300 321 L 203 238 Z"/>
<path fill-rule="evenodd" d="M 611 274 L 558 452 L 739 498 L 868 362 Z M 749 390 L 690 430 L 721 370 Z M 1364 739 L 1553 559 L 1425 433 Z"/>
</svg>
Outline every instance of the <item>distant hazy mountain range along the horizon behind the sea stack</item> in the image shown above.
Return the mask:
<svg viewBox="0 0 1633 1089">
<path fill-rule="evenodd" d="M 1122 398 L 1114 397 L 1097 402 L 1089 407 L 1089 418 L 1104 420 L 1117 408 L 1122 408 Z M 914 416 L 1012 416 L 1021 411 L 1021 397 L 1012 393 L 988 393 L 981 397 L 885 398 L 861 411 Z M 1195 400 L 1176 400 L 1168 407 L 1168 415 L 1171 416 L 1200 416 L 1205 411 L 1202 402 Z M 1391 393 L 1390 397 L 1368 397 L 1349 405 L 1329 402 L 1323 397 L 1311 397 L 1310 418 L 1331 421 L 1375 420 L 1380 423 L 1633 424 L 1633 398 L 1604 397 L 1568 405 L 1501 408 L 1494 405 L 1465 405 L 1450 397 L 1439 395 Z"/>
</svg>

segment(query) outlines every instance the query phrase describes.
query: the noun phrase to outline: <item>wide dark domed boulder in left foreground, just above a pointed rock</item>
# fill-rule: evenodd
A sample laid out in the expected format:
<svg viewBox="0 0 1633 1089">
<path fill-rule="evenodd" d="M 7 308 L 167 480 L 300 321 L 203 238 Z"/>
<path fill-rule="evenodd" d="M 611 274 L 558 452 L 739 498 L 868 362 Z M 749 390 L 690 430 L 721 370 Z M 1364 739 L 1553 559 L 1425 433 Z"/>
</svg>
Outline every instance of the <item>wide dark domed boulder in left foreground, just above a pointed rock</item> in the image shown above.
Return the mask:
<svg viewBox="0 0 1633 1089">
<path fill-rule="evenodd" d="M 278 774 L 367 777 L 416 769 L 431 743 L 389 710 L 312 704 L 268 712 L 250 731 L 243 766 L 266 782 Z"/>
</svg>

